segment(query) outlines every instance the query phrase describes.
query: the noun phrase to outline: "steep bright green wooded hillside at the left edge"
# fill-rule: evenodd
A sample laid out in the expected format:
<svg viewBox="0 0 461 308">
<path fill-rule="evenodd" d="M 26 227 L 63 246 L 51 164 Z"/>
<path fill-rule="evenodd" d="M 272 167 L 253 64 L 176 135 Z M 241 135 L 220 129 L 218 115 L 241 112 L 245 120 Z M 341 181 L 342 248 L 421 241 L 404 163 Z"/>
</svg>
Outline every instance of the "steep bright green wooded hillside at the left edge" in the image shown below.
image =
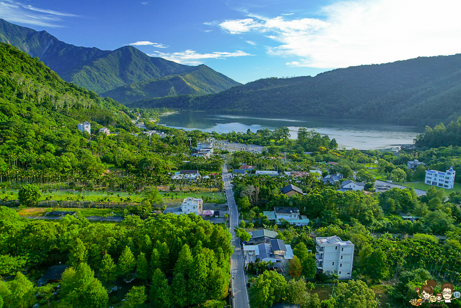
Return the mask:
<svg viewBox="0 0 461 308">
<path fill-rule="evenodd" d="M 11 171 L 13 161 L 17 167 L 46 169 L 63 158 L 75 172 L 81 160 L 82 171 L 100 168 L 77 123 L 89 121 L 93 130 L 136 130 L 129 115 L 134 118 L 127 107 L 63 81 L 42 62 L 0 43 L 1 172 Z"/>
</svg>

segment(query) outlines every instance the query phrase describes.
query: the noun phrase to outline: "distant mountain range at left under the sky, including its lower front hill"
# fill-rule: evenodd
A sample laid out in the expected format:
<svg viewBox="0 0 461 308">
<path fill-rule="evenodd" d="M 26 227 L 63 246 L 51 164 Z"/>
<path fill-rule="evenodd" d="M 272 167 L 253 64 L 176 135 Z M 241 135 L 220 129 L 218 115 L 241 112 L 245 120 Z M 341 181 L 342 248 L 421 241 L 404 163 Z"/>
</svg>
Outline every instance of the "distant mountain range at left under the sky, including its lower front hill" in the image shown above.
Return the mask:
<svg viewBox="0 0 461 308">
<path fill-rule="evenodd" d="M 35 31 L 0 19 L 0 42 L 38 57 L 62 79 L 117 98 L 209 94 L 239 83 L 211 68 L 188 66 L 151 57 L 132 46 L 115 50 L 78 47 L 59 41 L 46 31 Z"/>
</svg>

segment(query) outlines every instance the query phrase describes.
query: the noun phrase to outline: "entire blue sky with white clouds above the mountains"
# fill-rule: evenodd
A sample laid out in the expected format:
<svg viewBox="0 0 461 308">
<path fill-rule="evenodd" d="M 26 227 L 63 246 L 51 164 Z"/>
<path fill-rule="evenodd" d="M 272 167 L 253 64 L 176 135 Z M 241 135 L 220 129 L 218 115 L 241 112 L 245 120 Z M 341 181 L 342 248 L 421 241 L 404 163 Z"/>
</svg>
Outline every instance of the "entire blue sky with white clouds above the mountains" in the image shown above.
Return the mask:
<svg viewBox="0 0 461 308">
<path fill-rule="evenodd" d="M 69 44 L 125 45 L 247 83 L 461 52 L 458 0 L 0 0 Z"/>
</svg>

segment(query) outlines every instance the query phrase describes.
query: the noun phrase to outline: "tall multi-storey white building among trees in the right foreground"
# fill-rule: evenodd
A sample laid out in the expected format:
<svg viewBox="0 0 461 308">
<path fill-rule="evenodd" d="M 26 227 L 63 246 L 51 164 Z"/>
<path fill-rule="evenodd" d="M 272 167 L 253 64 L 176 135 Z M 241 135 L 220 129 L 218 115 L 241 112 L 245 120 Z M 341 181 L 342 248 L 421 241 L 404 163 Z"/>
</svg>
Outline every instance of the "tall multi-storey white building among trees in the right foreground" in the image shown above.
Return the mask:
<svg viewBox="0 0 461 308">
<path fill-rule="evenodd" d="M 343 241 L 337 236 L 315 238 L 315 259 L 317 270 L 334 273 L 339 279 L 352 277 L 352 262 L 354 259 L 354 244 Z"/>
</svg>

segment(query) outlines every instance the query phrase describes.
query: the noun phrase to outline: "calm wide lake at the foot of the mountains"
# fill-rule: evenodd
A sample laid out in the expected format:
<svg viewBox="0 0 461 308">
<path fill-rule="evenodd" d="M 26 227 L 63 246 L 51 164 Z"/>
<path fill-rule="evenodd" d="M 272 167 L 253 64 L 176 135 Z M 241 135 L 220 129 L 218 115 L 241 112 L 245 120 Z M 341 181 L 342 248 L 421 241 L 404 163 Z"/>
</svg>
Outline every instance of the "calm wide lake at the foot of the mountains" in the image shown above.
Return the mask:
<svg viewBox="0 0 461 308">
<path fill-rule="evenodd" d="M 364 120 L 338 120 L 309 117 L 277 117 L 257 115 L 230 115 L 200 111 L 187 111 L 160 118 L 159 124 L 186 130 L 200 129 L 208 132 L 246 132 L 250 129 L 274 129 L 287 126 L 291 139 L 297 138 L 299 127 L 315 129 L 336 139 L 340 147 L 346 149 L 389 149 L 399 145 L 412 144 L 413 139 L 423 132 L 422 128 L 392 124 L 370 123 Z"/>
</svg>

